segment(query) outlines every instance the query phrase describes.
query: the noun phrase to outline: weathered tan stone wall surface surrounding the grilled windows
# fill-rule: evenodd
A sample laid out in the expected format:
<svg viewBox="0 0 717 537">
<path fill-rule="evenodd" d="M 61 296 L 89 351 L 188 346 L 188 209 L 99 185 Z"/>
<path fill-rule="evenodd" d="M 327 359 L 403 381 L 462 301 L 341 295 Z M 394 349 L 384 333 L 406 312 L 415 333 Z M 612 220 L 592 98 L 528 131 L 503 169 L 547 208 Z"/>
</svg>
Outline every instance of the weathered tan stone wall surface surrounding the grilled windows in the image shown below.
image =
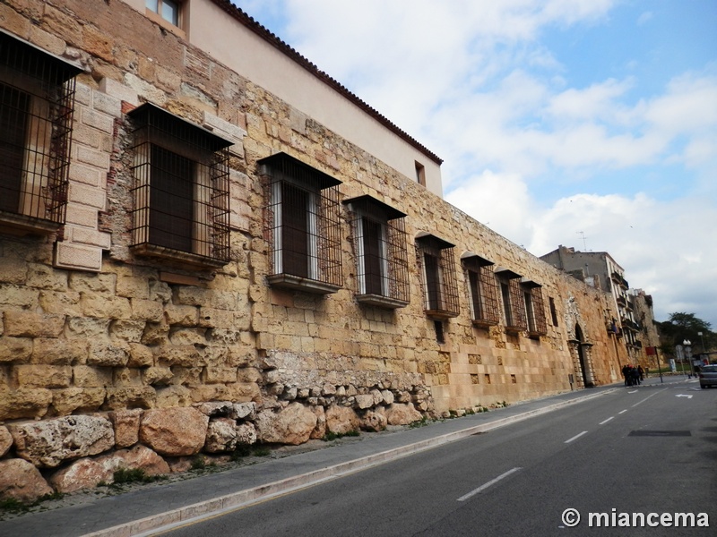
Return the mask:
<svg viewBox="0 0 717 537">
<path fill-rule="evenodd" d="M 111 481 L 121 467 L 163 473 L 200 452 L 381 430 L 619 379 L 624 357 L 606 330 L 609 296 L 216 62 L 181 32 L 125 2 L 81 0 L 4 2 L 0 25 L 82 68 L 65 225 L 56 234 L 0 234 L 0 474 L 18 476 L 0 482 L 0 495 L 77 490 Z M 145 102 L 232 144 L 230 251 L 220 267 L 131 248 L 127 113 Z M 343 205 L 340 288 L 311 294 L 267 283 L 270 192 L 257 161 L 280 151 L 340 181 L 341 199 L 368 194 L 405 214 L 405 307 L 356 300 L 358 240 Z M 424 232 L 454 244 L 460 309 L 440 326 L 426 314 L 413 244 Z M 545 332 L 475 325 L 464 252 L 538 283 Z M 34 484 L 18 489 L 30 473 Z"/>
</svg>

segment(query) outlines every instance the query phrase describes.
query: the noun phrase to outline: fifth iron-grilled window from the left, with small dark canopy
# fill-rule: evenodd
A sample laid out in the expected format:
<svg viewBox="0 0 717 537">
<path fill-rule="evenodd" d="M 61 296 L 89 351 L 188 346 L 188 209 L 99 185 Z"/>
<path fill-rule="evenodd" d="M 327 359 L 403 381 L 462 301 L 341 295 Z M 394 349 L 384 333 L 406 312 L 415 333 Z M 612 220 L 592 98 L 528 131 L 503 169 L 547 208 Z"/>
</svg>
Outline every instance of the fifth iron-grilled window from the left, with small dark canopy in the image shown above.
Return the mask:
<svg viewBox="0 0 717 537">
<path fill-rule="evenodd" d="M 454 245 L 430 234 L 416 239 L 428 317 L 448 319 L 459 313 Z"/>
</svg>

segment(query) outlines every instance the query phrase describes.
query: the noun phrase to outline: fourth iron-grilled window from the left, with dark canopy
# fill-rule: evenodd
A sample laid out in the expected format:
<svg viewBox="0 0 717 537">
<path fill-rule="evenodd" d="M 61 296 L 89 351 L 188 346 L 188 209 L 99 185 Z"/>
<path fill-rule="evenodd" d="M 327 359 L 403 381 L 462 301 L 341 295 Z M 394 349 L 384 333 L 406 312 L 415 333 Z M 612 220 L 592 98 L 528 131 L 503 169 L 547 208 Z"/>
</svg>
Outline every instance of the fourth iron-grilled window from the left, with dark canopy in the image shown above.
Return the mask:
<svg viewBox="0 0 717 537">
<path fill-rule="evenodd" d="M 345 200 L 351 213 L 359 303 L 401 308 L 409 303 L 406 230 L 401 211 L 370 196 Z"/>
</svg>

